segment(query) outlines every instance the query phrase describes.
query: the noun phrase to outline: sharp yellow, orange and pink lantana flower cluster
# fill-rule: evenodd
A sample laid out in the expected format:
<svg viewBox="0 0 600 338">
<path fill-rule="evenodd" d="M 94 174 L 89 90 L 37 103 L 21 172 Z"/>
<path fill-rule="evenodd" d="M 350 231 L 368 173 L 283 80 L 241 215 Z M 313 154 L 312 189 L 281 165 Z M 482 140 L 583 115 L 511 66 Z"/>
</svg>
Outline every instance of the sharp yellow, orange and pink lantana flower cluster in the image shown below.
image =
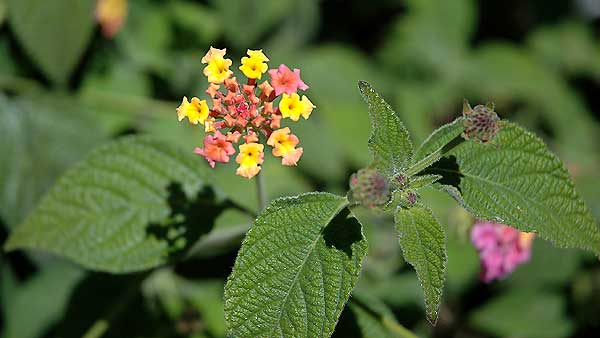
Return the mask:
<svg viewBox="0 0 600 338">
<path fill-rule="evenodd" d="M 260 143 L 263 139 L 272 148 L 272 154 L 281 157 L 281 164 L 295 166 L 303 149 L 298 147 L 298 137 L 290 128 L 281 127 L 281 121 L 308 119 L 315 108 L 306 95 L 298 93 L 308 89 L 300 78 L 300 70 L 291 70 L 284 64 L 269 70 L 269 58 L 262 50 L 248 50 L 239 67 L 247 81 L 240 83 L 233 77 L 229 69 L 232 61 L 225 58 L 225 53 L 226 49 L 211 47 L 201 60 L 206 64 L 204 75 L 209 83 L 206 93 L 211 101 L 183 97 L 177 108 L 179 121 L 187 118 L 206 133 L 203 147 L 194 152 L 214 168 L 216 162 L 229 162 L 236 153 L 235 145 L 239 144 L 236 174 L 252 178 L 260 172 L 264 161 L 265 146 Z M 261 81 L 265 73 L 270 82 Z"/>
</svg>

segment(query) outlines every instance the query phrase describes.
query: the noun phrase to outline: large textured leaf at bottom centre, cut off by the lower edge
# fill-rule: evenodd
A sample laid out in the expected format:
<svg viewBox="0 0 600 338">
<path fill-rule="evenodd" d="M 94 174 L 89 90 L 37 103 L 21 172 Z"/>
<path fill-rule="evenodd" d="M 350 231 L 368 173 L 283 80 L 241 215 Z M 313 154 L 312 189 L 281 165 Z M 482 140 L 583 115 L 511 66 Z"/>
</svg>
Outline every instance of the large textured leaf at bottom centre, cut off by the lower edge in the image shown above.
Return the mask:
<svg viewBox="0 0 600 338">
<path fill-rule="evenodd" d="M 230 335 L 331 335 L 367 252 L 347 204 L 308 193 L 277 199 L 258 216 L 225 286 Z"/>
</svg>

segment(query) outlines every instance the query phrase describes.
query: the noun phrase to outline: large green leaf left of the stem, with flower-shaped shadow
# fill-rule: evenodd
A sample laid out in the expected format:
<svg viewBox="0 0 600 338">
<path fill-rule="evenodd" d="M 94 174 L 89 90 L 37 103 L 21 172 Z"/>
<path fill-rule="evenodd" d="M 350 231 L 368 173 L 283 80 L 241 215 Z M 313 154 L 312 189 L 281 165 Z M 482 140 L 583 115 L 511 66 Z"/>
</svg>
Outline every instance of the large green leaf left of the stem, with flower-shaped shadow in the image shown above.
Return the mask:
<svg viewBox="0 0 600 338">
<path fill-rule="evenodd" d="M 165 264 L 208 233 L 225 207 L 205 186 L 205 168 L 149 137 L 101 146 L 58 181 L 6 249 L 46 250 L 115 273 Z"/>
</svg>

